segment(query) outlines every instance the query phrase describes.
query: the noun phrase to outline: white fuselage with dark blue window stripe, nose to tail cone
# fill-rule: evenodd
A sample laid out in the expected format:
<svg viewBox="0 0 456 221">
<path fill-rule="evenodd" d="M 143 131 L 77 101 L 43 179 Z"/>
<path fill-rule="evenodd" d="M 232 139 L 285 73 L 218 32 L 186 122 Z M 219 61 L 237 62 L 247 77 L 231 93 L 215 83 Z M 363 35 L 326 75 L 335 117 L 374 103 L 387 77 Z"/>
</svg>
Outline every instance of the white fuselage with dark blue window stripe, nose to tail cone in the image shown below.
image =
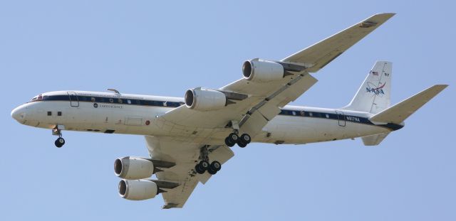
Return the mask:
<svg viewBox="0 0 456 221">
<path fill-rule="evenodd" d="M 34 97 L 11 112 L 21 124 L 45 129 L 56 126 L 70 131 L 92 131 L 108 134 L 138 134 L 151 136 L 188 136 L 182 132 L 162 129 L 159 117 L 184 104 L 182 98 L 148 95 L 125 95 L 107 92 L 62 91 L 47 92 Z M 273 144 L 306 144 L 320 141 L 350 139 L 381 134 L 403 125 L 375 125 L 368 120 L 370 113 L 344 109 L 285 106 L 255 142 Z M 212 139 L 223 144 L 227 129 L 215 131 Z"/>
</svg>

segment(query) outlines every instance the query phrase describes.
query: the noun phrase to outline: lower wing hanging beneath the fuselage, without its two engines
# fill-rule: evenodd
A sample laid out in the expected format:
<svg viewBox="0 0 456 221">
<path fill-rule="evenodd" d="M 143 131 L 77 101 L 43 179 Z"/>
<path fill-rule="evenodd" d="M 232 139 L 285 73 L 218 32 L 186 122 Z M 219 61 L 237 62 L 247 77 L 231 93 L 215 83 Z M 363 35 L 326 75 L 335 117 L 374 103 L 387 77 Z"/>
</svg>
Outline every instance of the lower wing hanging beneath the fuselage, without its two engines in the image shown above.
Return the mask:
<svg viewBox="0 0 456 221">
<path fill-rule="evenodd" d="M 159 181 L 178 183 L 175 188 L 166 189 L 162 193 L 164 209 L 182 208 L 192 194 L 198 182 L 206 183 L 211 177 L 209 173 L 192 173 L 199 161 L 199 149 L 203 144 L 197 144 L 188 139 L 173 137 L 145 136 L 147 150 L 154 160 L 175 163 L 175 166 L 155 173 Z M 225 163 L 234 153 L 227 146 L 210 146 L 209 158 L 212 161 Z"/>
</svg>

